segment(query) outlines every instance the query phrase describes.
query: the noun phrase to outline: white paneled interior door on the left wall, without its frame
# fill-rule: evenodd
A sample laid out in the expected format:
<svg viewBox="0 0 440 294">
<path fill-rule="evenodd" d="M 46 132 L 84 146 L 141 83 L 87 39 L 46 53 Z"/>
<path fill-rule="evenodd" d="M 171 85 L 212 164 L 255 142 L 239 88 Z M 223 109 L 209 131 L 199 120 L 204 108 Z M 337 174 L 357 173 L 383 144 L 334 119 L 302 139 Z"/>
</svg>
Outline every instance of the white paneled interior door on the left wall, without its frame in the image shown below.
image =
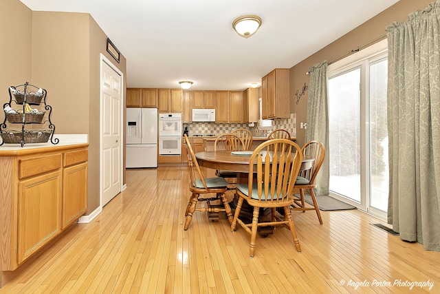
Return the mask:
<svg viewBox="0 0 440 294">
<path fill-rule="evenodd" d="M 101 207 L 121 191 L 122 77 L 101 61 Z"/>
</svg>

